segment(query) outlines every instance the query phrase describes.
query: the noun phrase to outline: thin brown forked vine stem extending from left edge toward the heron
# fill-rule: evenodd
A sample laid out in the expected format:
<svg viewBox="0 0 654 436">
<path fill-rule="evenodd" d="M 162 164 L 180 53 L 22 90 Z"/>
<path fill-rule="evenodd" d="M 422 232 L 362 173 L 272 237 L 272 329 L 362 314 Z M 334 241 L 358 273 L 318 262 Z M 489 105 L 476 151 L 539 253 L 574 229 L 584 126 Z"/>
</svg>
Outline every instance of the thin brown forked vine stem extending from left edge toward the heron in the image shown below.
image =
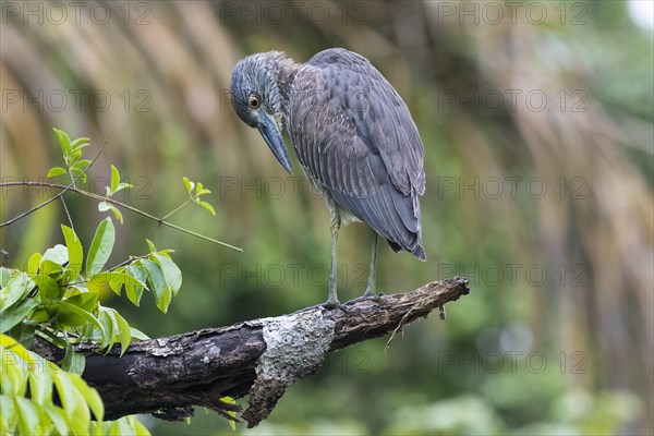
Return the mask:
<svg viewBox="0 0 654 436">
<path fill-rule="evenodd" d="M 105 141 L 105 144 L 107 142 Z M 102 147 L 105 147 L 105 144 L 102 144 Z M 100 152 L 101 152 L 101 149 L 100 149 Z M 96 156 L 96 158 L 97 158 L 97 156 Z M 95 160 L 95 158 L 94 158 L 94 160 Z M 77 177 L 77 179 L 80 179 L 80 177 Z M 73 181 L 73 183 L 75 181 L 77 181 L 77 179 L 75 179 Z M 73 183 L 68 184 L 68 185 L 63 185 L 63 184 L 59 184 L 59 183 L 49 183 L 49 182 L 35 182 L 35 181 L 20 181 L 20 182 L 3 182 L 3 183 L 0 183 L 0 187 L 5 187 L 5 186 L 41 186 L 41 187 L 53 187 L 56 190 L 61 190 L 60 193 L 58 193 L 57 195 L 55 195 L 51 198 L 48 198 L 44 203 L 41 203 L 41 204 L 33 207 L 32 209 L 29 209 L 27 211 L 24 211 L 23 214 L 16 216 L 16 217 L 14 217 L 14 218 L 5 221 L 5 222 L 0 223 L 0 228 L 9 226 L 9 225 L 17 221 L 19 219 L 21 219 L 21 218 L 23 218 L 23 217 L 25 217 L 25 216 L 27 216 L 27 215 L 36 211 L 37 209 L 44 207 L 45 205 L 53 202 L 57 198 L 59 198 L 66 191 L 71 191 L 71 192 L 75 192 L 77 194 L 87 196 L 89 198 L 94 198 L 94 199 L 99 199 L 101 202 L 111 203 L 114 206 L 119 206 L 119 207 L 122 207 L 122 208 L 124 208 L 126 210 L 131 210 L 131 211 L 133 211 L 135 214 L 138 214 L 138 215 L 141 215 L 143 217 L 146 217 L 146 218 L 148 218 L 148 219 L 150 219 L 153 221 L 158 222 L 159 226 L 170 227 L 171 229 L 175 229 L 178 231 L 181 231 L 182 233 L 191 234 L 192 237 L 199 238 L 202 240 L 205 240 L 205 241 L 208 241 L 208 242 L 213 242 L 213 243 L 218 244 L 218 245 L 222 245 L 222 246 L 225 246 L 227 249 L 231 249 L 231 250 L 234 250 L 237 252 L 241 252 L 241 253 L 243 252 L 243 249 L 240 249 L 240 247 L 234 246 L 234 245 L 230 245 L 230 244 L 228 244 L 226 242 L 222 242 L 222 241 L 218 241 L 217 239 L 214 239 L 214 238 L 205 237 L 204 234 L 194 232 L 193 230 L 185 229 L 185 228 L 183 228 L 181 226 L 173 225 L 172 222 L 166 221 L 164 218 L 157 218 L 157 217 L 155 217 L 152 214 L 148 214 L 148 213 L 146 213 L 144 210 L 137 209 L 136 207 L 130 206 L 130 205 L 124 204 L 122 202 L 119 202 L 117 199 L 113 199 L 113 198 L 110 198 L 110 197 L 106 197 L 106 196 L 96 194 L 95 192 L 88 192 L 88 191 L 81 190 L 78 187 L 73 187 Z M 170 215 L 170 214 L 168 214 L 168 215 Z"/>
</svg>

